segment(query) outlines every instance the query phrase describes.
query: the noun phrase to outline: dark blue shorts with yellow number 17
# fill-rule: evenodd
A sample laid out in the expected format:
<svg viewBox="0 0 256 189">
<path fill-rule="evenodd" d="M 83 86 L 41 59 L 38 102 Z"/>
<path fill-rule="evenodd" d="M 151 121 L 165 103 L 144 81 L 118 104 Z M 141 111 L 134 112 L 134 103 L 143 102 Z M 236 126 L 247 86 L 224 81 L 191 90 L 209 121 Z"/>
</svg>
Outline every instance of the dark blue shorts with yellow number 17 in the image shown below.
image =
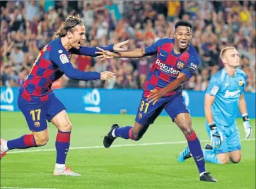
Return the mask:
<svg viewBox="0 0 256 189">
<path fill-rule="evenodd" d="M 27 101 L 19 94 L 18 108 L 25 116 L 30 130 L 35 132 L 44 131 L 47 128 L 46 120 L 50 122 L 54 116 L 66 109 L 54 93 L 50 93 L 45 102 L 40 102 L 40 97 Z"/>
</svg>

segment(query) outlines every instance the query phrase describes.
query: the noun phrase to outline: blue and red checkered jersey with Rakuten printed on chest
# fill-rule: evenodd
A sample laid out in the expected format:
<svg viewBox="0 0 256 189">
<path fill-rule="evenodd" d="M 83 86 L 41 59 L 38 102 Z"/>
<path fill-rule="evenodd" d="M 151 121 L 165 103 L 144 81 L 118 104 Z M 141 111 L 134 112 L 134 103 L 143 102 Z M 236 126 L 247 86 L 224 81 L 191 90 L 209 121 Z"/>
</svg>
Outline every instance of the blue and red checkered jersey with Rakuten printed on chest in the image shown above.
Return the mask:
<svg viewBox="0 0 256 189">
<path fill-rule="evenodd" d="M 174 42 L 175 39 L 173 38 L 162 38 L 145 48 L 146 56 L 157 54 L 157 57 L 152 64 L 147 81 L 143 86 L 144 97 L 147 97 L 154 88 L 165 88 L 181 72 L 191 78 L 199 66 L 199 54 L 191 44 L 189 44 L 186 52 L 176 54 L 173 49 Z M 182 93 L 182 87 L 167 93 L 166 96 L 171 96 L 175 93 Z"/>
</svg>

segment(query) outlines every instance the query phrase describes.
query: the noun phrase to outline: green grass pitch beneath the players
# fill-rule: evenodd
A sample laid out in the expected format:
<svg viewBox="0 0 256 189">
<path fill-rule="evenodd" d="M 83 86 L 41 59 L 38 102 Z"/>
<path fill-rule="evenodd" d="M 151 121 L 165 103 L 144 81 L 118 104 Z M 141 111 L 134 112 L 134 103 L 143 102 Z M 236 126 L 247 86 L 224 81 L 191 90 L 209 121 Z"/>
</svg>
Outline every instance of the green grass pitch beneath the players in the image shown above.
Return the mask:
<svg viewBox="0 0 256 189">
<path fill-rule="evenodd" d="M 1 188 L 255 188 L 255 120 L 250 121 L 253 139 L 247 141 L 243 122 L 237 120 L 243 140 L 241 162 L 236 165 L 206 163 L 207 171 L 218 179 L 218 183 L 206 183 L 199 181 L 192 158 L 177 162 L 186 141 L 169 117 L 158 117 L 140 141 L 118 138 L 114 142 L 118 146 L 108 149 L 102 147 L 103 137 L 112 123 L 133 125 L 134 116 L 69 114 L 69 117 L 73 123 L 70 147 L 74 149 L 69 151 L 67 165 L 82 176 L 52 176 L 57 130 L 50 124 L 50 140 L 46 146 L 26 150 L 32 152 L 9 153 L 1 160 Z M 209 141 L 204 118 L 193 117 L 192 126 L 204 146 Z M 28 132 L 22 113 L 1 112 L 1 137 L 12 139 Z"/>
</svg>

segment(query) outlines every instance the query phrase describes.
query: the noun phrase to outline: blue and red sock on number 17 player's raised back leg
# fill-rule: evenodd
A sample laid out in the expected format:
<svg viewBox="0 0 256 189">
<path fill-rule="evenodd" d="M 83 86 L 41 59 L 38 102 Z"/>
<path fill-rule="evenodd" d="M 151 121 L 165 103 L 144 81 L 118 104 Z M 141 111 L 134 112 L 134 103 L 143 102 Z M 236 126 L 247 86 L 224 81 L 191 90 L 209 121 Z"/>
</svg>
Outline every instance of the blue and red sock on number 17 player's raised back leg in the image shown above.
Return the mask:
<svg viewBox="0 0 256 189">
<path fill-rule="evenodd" d="M 9 150 L 37 147 L 33 134 L 23 135 L 20 138 L 7 141 Z"/>
</svg>

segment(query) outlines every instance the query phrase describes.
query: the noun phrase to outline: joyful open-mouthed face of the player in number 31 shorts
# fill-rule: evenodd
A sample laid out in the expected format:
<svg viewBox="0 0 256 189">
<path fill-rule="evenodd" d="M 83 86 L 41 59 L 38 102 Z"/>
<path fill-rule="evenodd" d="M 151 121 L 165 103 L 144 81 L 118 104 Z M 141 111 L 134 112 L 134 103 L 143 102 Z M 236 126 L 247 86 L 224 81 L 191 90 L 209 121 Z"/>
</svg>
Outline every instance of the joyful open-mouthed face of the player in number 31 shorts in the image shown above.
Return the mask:
<svg viewBox="0 0 256 189">
<path fill-rule="evenodd" d="M 180 47 L 180 49 L 187 48 L 192 38 L 191 28 L 188 26 L 178 26 L 175 29 L 174 38 L 176 47 Z"/>
</svg>

